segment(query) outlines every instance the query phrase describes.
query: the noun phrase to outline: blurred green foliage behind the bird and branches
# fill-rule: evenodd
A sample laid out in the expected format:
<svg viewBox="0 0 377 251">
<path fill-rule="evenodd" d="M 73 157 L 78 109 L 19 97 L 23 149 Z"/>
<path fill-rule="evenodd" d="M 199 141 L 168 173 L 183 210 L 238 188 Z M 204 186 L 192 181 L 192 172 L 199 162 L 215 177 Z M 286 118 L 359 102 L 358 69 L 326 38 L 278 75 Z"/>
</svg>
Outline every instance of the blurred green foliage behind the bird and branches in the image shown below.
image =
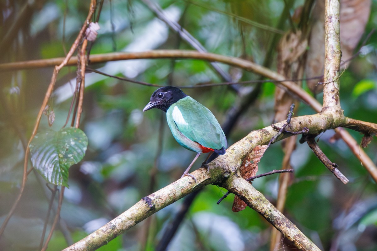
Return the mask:
<svg viewBox="0 0 377 251">
<path fill-rule="evenodd" d="M 5 2 L 2 3 L 2 8 L 16 14 L 25 1 Z M 77 36 L 87 15 L 89 1 L 41 2 L 41 8 L 35 9 L 29 22 L 23 24 L 18 42 L 12 44 L 12 50 L 6 53 L 1 62 L 65 55 L 63 48 L 69 49 Z M 157 2 L 171 14 L 172 20 L 180 23 L 209 52 L 242 56 L 258 64 L 263 63 L 274 33 L 239 21 L 234 15 L 275 28 L 284 7 L 284 2 L 277 0 L 208 0 L 204 4 L 209 8 L 186 1 Z M 302 4 L 303 1 L 294 1 L 293 6 L 296 8 Z M 376 10 L 377 5 L 373 1 L 365 34 L 377 25 Z M 294 9 L 290 9 L 291 15 L 293 12 Z M 5 12 L 2 13 L 5 20 Z M 46 18 L 46 13 L 53 18 Z M 158 21 L 142 1 L 105 1 L 99 24 L 101 29 L 98 38 L 91 44 L 92 54 L 192 49 L 164 23 Z M 290 29 L 287 20 L 281 26 L 284 31 Z M 362 40 L 365 37 L 366 35 Z M 340 100 L 345 115 L 373 123 L 377 123 L 375 41 L 377 34 L 373 33 L 363 47 L 365 53 L 349 62 L 348 69 L 340 78 Z M 275 70 L 276 53 L 273 55 L 269 60 L 272 61 L 271 69 Z M 191 59 L 116 61 L 89 66 L 112 75 L 159 85 L 182 87 L 222 81 L 207 62 Z M 220 66 L 226 72 L 231 71 L 231 67 L 227 65 Z M 18 193 L 25 154 L 22 141 L 27 142 L 31 135 L 51 79 L 52 68 L 0 74 L 0 216 L 3 217 Z M 54 130 L 61 129 L 66 121 L 72 97 L 68 95 L 65 100 L 60 97 L 67 93 L 66 90 L 74 88 L 75 76 L 75 67 L 63 68 L 58 76 L 52 97 L 56 118 L 52 126 Z M 61 250 L 67 246 L 67 236 L 64 237 L 63 233 L 68 234 L 73 241 L 80 240 L 127 210 L 140 198 L 175 181 L 195 156 L 176 143 L 161 111 L 142 112 L 155 87 L 105 78 L 97 73 L 87 73 L 86 76 L 87 87 L 80 128 L 86 133 L 89 146 L 84 160 L 69 170 L 69 189 L 65 191 L 61 212 L 62 225 L 66 227 L 55 231 L 48 250 Z M 257 79 L 259 76 L 253 73 L 242 72 L 240 80 Z M 307 90 L 305 82 L 303 84 Z M 64 86 L 68 89 L 59 91 Z M 246 86 L 248 88 L 242 89 L 245 92 L 253 90 L 255 84 Z M 262 84 L 258 99 L 231 131 L 229 144 L 238 141 L 251 130 L 271 124 L 274 90 L 273 83 Z M 220 123 L 225 122 L 228 112 L 240 99 L 232 88 L 226 86 L 184 91 L 207 106 Z M 321 95 L 317 99 L 321 100 Z M 302 103 L 295 115 L 313 113 L 313 110 Z M 44 116 L 40 131 L 47 128 L 49 126 Z M 350 132 L 360 142 L 362 135 Z M 377 205 L 373 203 L 373 200 L 376 201 L 375 183 L 345 143 L 329 143 L 333 134 L 332 130 L 321 134 L 318 137 L 319 145 L 329 159 L 339 165 L 350 183 L 341 184 L 317 160 L 307 145 L 298 144 L 292 157 L 294 180 L 288 189 L 284 214 L 324 250 L 329 250 L 335 240 L 344 244 L 339 244 L 339 250 L 350 250 L 342 249 L 345 244 L 355 248 L 352 250 L 376 250 Z M 365 151 L 376 162 L 375 139 Z M 281 168 L 283 157 L 280 142 L 273 144 L 262 158 L 258 173 Z M 199 161 L 204 158 L 202 156 Z M 276 202 L 276 175 L 257 179 L 253 185 L 271 202 Z M 44 222 L 51 192 L 34 172 L 29 174 L 25 190 L 14 219 Z M 268 236 L 271 227 L 268 222 L 251 208 L 233 213 L 233 195 L 217 205 L 216 202 L 225 192 L 217 186 L 208 186 L 199 193 L 169 250 L 269 250 Z M 178 201 L 156 213 L 152 216 L 149 227 L 146 221 L 142 222 L 99 250 L 154 250 L 181 203 L 182 201 Z M 357 211 L 357 206 L 365 210 Z M 360 213 L 352 214 L 354 212 Z M 51 222 L 50 219 L 49 225 Z M 17 227 L 17 223 L 15 225 Z M 22 225 L 20 228 L 27 226 Z M 228 229 L 234 231 L 228 233 Z M 35 232 L 31 228 L 29 230 L 18 233 L 17 237 L 33 237 Z M 354 237 L 347 239 L 346 236 Z M 0 241 L 0 247 L 8 248 L 3 250 L 25 250 L 25 247 L 15 245 L 17 243 L 14 240 L 7 238 L 5 235 L 5 240 Z M 368 245 L 363 245 L 360 240 Z M 32 244 L 33 246 L 27 247 L 28 250 L 36 250 L 39 240 L 35 245 L 34 242 Z M 289 243 L 284 245 L 290 248 Z"/>
</svg>

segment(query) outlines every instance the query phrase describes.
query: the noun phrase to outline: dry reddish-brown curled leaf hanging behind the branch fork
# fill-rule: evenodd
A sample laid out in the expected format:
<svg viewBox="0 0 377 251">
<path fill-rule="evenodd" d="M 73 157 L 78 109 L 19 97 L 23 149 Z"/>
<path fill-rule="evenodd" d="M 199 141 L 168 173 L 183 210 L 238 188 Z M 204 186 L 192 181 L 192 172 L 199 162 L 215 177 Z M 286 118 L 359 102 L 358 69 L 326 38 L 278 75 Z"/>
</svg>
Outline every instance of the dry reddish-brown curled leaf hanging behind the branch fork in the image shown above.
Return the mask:
<svg viewBox="0 0 377 251">
<path fill-rule="evenodd" d="M 244 179 L 253 177 L 258 172 L 258 163 L 261 161 L 267 145 L 256 146 L 242 161 L 240 172 Z M 237 195 L 234 196 L 232 211 L 239 212 L 247 207 L 246 203 Z"/>
</svg>

